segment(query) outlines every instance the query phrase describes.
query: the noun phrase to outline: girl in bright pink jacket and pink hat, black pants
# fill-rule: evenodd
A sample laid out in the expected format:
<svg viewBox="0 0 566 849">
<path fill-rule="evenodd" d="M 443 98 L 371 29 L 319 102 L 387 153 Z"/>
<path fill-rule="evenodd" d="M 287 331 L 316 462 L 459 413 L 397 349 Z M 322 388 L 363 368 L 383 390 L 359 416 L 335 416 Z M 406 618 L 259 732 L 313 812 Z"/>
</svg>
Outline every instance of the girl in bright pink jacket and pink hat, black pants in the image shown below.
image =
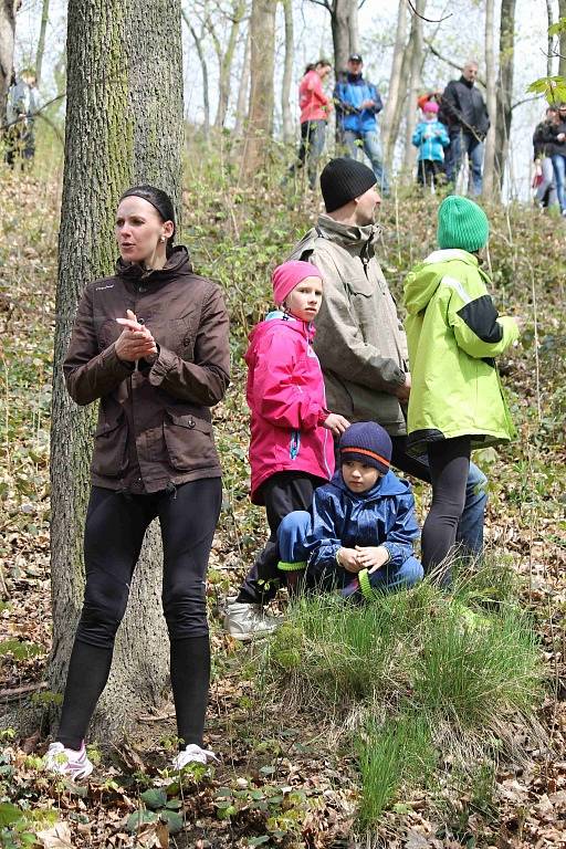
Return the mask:
<svg viewBox="0 0 566 849">
<path fill-rule="evenodd" d="M 273 272 L 273 295 L 279 308 L 253 328 L 245 354 L 251 496 L 265 506 L 271 535 L 228 606 L 226 627 L 241 640 L 275 627 L 261 608 L 281 580 L 279 525 L 287 513 L 307 510 L 315 489 L 332 478 L 333 434 L 339 437 L 349 426 L 344 416 L 326 409 L 321 364 L 312 347 L 312 322 L 323 297 L 321 272 L 308 262 L 285 262 Z"/>
</svg>

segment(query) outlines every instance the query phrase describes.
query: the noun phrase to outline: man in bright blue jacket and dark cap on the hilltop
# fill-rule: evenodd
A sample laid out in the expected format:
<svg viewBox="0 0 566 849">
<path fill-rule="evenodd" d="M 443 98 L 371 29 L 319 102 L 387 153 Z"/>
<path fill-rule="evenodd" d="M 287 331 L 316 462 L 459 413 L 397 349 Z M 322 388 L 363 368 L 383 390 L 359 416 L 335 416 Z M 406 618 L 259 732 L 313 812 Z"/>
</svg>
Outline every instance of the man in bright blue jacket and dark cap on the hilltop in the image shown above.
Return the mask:
<svg viewBox="0 0 566 849">
<path fill-rule="evenodd" d="M 379 192 L 387 196 L 389 184 L 382 163 L 376 118 L 384 104 L 376 86 L 364 80 L 363 66 L 359 53 L 353 53 L 348 59 L 347 74 L 336 83 L 334 90 L 336 120 L 339 122 L 350 158 L 357 159 L 358 151 L 363 148 L 377 177 Z"/>
</svg>

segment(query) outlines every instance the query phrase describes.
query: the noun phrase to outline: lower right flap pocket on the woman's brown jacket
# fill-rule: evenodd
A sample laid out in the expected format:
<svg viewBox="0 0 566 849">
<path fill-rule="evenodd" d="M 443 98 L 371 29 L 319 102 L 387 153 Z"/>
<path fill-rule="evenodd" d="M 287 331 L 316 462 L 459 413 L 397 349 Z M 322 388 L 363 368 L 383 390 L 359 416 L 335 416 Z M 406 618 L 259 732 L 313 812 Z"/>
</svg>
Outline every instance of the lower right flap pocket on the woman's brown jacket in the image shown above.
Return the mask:
<svg viewBox="0 0 566 849">
<path fill-rule="evenodd" d="M 164 438 L 174 469 L 189 471 L 218 464 L 212 426 L 190 412 L 166 410 Z"/>
</svg>

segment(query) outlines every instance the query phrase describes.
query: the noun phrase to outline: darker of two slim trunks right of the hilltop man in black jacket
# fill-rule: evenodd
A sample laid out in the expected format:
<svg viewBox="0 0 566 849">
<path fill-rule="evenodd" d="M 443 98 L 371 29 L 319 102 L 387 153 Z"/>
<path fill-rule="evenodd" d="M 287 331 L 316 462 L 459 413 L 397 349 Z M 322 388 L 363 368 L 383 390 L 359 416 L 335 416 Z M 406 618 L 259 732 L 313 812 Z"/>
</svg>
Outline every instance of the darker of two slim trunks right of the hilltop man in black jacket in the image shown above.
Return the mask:
<svg viewBox="0 0 566 849">
<path fill-rule="evenodd" d="M 502 0 L 500 24 L 500 70 L 496 86 L 495 174 L 503 188 L 511 135 L 513 70 L 515 60 L 515 2 Z"/>
</svg>

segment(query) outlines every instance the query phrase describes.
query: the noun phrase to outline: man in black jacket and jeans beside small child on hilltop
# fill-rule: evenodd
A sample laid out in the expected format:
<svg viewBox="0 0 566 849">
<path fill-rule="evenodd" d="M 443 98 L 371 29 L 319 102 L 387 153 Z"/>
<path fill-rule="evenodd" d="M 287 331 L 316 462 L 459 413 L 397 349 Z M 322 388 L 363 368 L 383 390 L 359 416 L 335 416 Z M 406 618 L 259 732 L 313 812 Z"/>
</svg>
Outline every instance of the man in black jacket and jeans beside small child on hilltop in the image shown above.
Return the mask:
<svg viewBox="0 0 566 849">
<path fill-rule="evenodd" d="M 442 115 L 449 122 L 450 156 L 447 178 L 458 180 L 462 158 L 468 157 L 472 171 L 472 189 L 481 195 L 483 181 L 483 142 L 490 128 L 490 116 L 481 92 L 475 87 L 478 63 L 465 63 L 460 80 L 451 80 L 442 95 Z"/>
</svg>

